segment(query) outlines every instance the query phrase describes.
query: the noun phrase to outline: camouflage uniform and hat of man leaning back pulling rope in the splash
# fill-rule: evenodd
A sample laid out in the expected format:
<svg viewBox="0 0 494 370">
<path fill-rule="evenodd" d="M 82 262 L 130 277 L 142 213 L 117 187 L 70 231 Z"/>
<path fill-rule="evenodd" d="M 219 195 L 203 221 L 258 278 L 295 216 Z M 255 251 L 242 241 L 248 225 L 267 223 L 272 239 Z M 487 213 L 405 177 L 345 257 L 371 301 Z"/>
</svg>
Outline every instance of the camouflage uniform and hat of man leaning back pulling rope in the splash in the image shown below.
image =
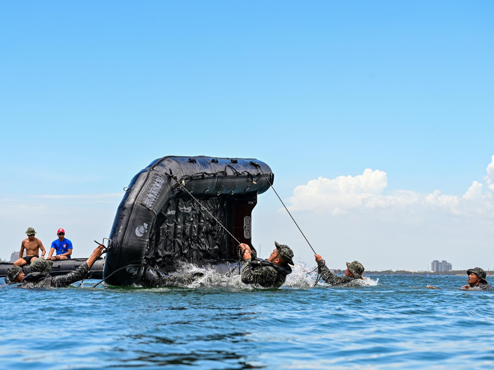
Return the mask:
<svg viewBox="0 0 494 370">
<path fill-rule="evenodd" d="M 287 245 L 274 242 L 281 257 L 293 265 L 293 251 Z M 245 261 L 242 270 L 242 283 L 259 284 L 264 288 L 279 288 L 285 283 L 286 277 L 292 272 L 290 266 L 278 266 L 269 261 L 257 259 L 257 252 L 252 249 L 252 258 Z"/>
</svg>

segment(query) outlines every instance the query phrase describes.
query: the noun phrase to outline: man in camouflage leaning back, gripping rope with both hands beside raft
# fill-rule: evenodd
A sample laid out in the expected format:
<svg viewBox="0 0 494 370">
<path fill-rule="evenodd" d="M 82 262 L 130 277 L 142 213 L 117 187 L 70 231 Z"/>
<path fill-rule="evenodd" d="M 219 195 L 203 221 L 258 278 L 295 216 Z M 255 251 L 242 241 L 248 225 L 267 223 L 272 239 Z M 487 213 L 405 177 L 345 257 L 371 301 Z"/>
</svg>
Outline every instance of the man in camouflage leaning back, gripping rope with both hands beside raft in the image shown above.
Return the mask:
<svg viewBox="0 0 494 370">
<path fill-rule="evenodd" d="M 274 248 L 267 260 L 258 260 L 256 250 L 247 244 L 240 244 L 240 254 L 245 261 L 242 283 L 259 284 L 264 288 L 279 288 L 292 273 L 293 251 L 285 244 L 274 242 Z"/>
</svg>

